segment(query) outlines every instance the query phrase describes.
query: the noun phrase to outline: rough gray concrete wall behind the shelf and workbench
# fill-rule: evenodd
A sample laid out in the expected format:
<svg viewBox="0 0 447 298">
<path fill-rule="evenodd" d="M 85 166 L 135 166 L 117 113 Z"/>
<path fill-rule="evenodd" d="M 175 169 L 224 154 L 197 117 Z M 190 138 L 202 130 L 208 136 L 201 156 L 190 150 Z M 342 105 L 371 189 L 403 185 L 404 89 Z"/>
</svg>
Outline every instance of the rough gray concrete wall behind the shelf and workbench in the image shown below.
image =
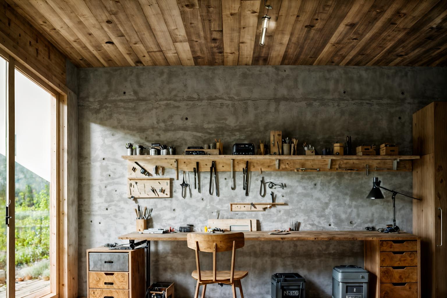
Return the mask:
<svg viewBox="0 0 447 298">
<path fill-rule="evenodd" d="M 269 131 L 310 142 L 320 150 L 351 135 L 353 144 L 396 142 L 411 154 L 412 114 L 431 101 L 446 100 L 445 68 L 412 67 L 108 67 L 79 70 L 79 294 L 86 294 L 85 249 L 120 242 L 135 230 L 134 202 L 126 197 L 124 143 L 188 145 L 220 138 L 226 153 L 236 142 L 258 143 Z M 173 171 L 166 176 L 173 177 Z M 363 230 L 384 227 L 392 203 L 367 200 L 372 177 L 365 173 L 264 172 L 283 182 L 279 206 L 259 213 L 229 211 L 233 201 L 259 201 L 261 175 L 253 172 L 250 196 L 242 176 L 230 189 L 229 173 L 219 174 L 220 197 L 207 192 L 181 197 L 174 180 L 171 199 L 140 199 L 153 208 L 153 227 L 194 224 L 207 218 L 257 218 L 262 230 L 285 229 L 298 220 L 301 230 Z M 383 185 L 411 193 L 410 172 L 384 172 Z M 193 176 L 191 176 L 193 177 Z M 412 202 L 398 197 L 397 224 L 411 232 Z M 152 281 L 174 281 L 176 297 L 191 297 L 194 253 L 186 243 L 153 243 Z M 210 263 L 208 263 L 210 264 Z M 363 266 L 363 243 L 355 241 L 248 242 L 238 251 L 237 268 L 249 270 L 246 297 L 270 297 L 270 276 L 298 272 L 308 297 L 330 297 L 331 270 L 339 264 Z M 143 265 L 143 264 L 142 264 Z M 228 287 L 211 285 L 210 297 L 231 297 Z"/>
</svg>

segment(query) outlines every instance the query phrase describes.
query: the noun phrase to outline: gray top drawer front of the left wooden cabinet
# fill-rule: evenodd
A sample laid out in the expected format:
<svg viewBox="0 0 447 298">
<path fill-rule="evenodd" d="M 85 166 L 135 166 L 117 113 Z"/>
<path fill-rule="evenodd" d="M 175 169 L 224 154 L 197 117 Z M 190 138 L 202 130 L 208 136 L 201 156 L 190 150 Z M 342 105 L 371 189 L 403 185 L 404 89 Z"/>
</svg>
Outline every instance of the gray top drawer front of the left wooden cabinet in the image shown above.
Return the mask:
<svg viewBox="0 0 447 298">
<path fill-rule="evenodd" d="M 89 271 L 129 271 L 127 252 L 89 252 Z"/>
</svg>

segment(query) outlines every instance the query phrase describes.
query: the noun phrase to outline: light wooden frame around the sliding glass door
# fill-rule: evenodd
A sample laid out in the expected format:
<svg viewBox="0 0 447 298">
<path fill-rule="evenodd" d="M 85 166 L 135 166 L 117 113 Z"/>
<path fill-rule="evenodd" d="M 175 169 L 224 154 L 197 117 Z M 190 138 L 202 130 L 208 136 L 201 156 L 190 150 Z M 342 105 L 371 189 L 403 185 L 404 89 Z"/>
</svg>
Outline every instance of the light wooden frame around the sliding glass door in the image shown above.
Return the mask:
<svg viewBox="0 0 447 298">
<path fill-rule="evenodd" d="M 14 134 L 15 134 L 15 78 L 14 71 L 20 71 L 34 83 L 51 94 L 51 181 L 50 181 L 50 288 L 39 290 L 25 296 L 25 298 L 59 298 L 66 297 L 60 276 L 67 277 L 67 269 L 61 266 L 61 260 L 67 259 L 68 227 L 67 227 L 67 94 L 58 92 L 36 76 L 33 71 L 18 63 L 16 59 L 0 49 L 0 56 L 8 61 L 7 76 L 7 131 L 8 139 L 6 162 L 7 162 L 7 182 L 6 198 L 10 200 L 10 213 L 15 216 L 15 179 L 14 176 L 15 156 L 14 156 Z M 11 101 L 10 99 L 13 98 Z M 7 247 L 15 252 L 15 220 L 7 227 L 8 239 Z M 11 257 L 12 256 L 12 257 Z M 15 255 L 7 256 L 7 292 L 6 298 L 15 298 Z M 77 277 L 76 277 L 77 278 Z"/>
</svg>

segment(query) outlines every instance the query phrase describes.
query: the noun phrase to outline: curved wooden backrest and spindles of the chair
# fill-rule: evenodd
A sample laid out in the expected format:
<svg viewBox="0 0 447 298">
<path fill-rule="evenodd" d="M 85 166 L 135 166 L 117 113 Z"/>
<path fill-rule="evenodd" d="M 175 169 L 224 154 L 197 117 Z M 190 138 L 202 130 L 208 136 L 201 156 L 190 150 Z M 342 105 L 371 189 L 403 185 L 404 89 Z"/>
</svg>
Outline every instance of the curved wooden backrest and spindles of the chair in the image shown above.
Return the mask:
<svg viewBox="0 0 447 298">
<path fill-rule="evenodd" d="M 200 275 L 200 259 L 198 252 L 213 253 L 213 281 L 216 279 L 216 253 L 232 251 L 230 282 L 233 282 L 234 263 L 236 260 L 236 249 L 244 247 L 244 233 L 223 233 L 223 234 L 188 234 L 188 247 L 195 250 L 198 281 L 202 281 Z"/>
</svg>

